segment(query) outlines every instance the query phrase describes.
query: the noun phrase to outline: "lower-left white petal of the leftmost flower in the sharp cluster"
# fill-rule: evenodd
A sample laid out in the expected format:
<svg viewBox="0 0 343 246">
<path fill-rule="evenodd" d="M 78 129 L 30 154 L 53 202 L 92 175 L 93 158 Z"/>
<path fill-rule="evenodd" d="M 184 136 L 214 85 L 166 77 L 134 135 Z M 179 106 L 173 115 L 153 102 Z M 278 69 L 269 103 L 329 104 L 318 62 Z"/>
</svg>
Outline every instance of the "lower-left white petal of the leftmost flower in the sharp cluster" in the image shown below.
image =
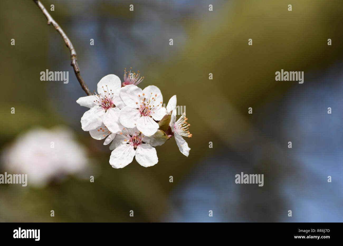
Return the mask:
<svg viewBox="0 0 343 246">
<path fill-rule="evenodd" d="M 83 131 L 91 131 L 99 127 L 103 123 L 103 115 L 105 109 L 99 106 L 94 106 L 86 111 L 81 117 L 81 126 Z"/>
</svg>

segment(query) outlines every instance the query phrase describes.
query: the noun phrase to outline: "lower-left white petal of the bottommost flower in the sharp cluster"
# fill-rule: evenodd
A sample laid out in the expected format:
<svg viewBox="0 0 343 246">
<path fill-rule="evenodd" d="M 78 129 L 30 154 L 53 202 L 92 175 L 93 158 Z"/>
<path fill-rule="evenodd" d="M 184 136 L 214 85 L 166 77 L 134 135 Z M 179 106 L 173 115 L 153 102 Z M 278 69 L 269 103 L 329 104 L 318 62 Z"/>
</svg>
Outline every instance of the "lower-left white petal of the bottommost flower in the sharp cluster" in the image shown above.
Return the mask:
<svg viewBox="0 0 343 246">
<path fill-rule="evenodd" d="M 112 151 L 109 163 L 113 168 L 123 168 L 132 162 L 134 155 L 133 145 L 123 144 Z"/>
</svg>

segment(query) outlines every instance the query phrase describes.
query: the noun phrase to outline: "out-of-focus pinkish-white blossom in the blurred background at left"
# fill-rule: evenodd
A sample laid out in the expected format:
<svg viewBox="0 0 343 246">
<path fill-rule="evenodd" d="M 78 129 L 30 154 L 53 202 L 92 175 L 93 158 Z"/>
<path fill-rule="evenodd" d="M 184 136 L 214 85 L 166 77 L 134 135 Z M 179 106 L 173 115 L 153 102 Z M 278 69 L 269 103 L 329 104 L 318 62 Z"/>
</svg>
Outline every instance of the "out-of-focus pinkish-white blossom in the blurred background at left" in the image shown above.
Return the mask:
<svg viewBox="0 0 343 246">
<path fill-rule="evenodd" d="M 19 134 L 1 159 L 5 172 L 27 174 L 28 185 L 39 187 L 82 173 L 90 164 L 87 151 L 66 127 L 34 128 Z"/>
</svg>

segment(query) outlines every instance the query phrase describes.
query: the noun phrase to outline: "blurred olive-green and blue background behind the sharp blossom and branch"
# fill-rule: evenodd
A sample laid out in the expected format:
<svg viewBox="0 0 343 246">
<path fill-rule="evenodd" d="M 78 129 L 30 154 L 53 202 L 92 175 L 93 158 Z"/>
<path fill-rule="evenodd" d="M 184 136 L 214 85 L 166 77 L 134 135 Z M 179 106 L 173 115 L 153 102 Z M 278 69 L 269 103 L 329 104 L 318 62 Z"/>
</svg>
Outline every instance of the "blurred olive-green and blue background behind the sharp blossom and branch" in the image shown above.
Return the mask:
<svg viewBox="0 0 343 246">
<path fill-rule="evenodd" d="M 141 88 L 156 85 L 165 103 L 176 94 L 191 150 L 171 139 L 153 167 L 112 168 L 108 146 L 81 129 L 86 95 L 62 38 L 33 1 L 3 0 L 0 173 L 23 170 L 28 186 L 0 184 L 1 222 L 343 221 L 341 0 L 42 3 L 91 91 L 132 66 Z M 69 83 L 40 81 L 46 69 L 69 71 Z M 304 71 L 304 84 L 275 81 L 281 69 Z M 264 174 L 264 186 L 235 184 L 241 172 Z"/>
</svg>

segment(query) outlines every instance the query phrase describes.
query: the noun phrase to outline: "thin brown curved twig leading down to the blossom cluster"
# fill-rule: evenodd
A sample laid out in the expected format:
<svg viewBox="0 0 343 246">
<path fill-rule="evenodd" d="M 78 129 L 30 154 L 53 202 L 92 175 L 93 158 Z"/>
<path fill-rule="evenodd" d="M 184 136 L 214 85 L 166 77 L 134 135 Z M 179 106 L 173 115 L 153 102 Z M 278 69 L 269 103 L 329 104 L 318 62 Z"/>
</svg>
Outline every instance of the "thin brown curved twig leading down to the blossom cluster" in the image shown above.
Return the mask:
<svg viewBox="0 0 343 246">
<path fill-rule="evenodd" d="M 78 81 L 79 81 L 82 89 L 86 92 L 86 94 L 88 96 L 92 95 L 91 91 L 88 89 L 88 86 L 83 81 L 83 79 L 82 79 L 82 77 L 80 75 L 80 69 L 79 69 L 79 65 L 78 65 L 78 59 L 76 57 L 76 51 L 74 49 L 73 44 L 69 40 L 68 36 L 63 32 L 62 28 L 57 24 L 57 22 L 54 19 L 52 19 L 51 15 L 45 9 L 44 5 L 39 0 L 33 0 L 33 1 L 37 4 L 39 9 L 42 10 L 43 14 L 45 15 L 46 19 L 48 20 L 48 25 L 50 25 L 52 23 L 52 25 L 55 27 L 57 32 L 62 36 L 64 42 L 66 43 L 66 46 L 70 50 L 70 59 L 71 59 L 71 64 L 70 65 L 74 69 L 76 78 L 78 78 Z"/>
</svg>

